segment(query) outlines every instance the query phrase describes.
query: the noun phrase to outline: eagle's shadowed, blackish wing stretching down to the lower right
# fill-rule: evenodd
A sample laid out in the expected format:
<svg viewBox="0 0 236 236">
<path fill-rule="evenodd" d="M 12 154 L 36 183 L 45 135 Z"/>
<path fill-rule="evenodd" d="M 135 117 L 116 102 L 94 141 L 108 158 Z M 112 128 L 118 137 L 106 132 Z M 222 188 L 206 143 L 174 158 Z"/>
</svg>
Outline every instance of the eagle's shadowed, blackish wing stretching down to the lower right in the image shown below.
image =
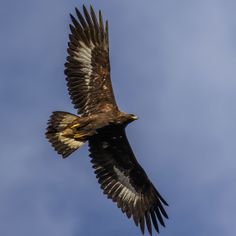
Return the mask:
<svg viewBox="0 0 236 236">
<path fill-rule="evenodd" d="M 90 156 L 104 194 L 117 203 L 128 218 L 144 233 L 145 225 L 152 234 L 152 225 L 165 226 L 168 218 L 161 197 L 139 165 L 126 138 L 124 127 L 108 126 L 98 130 L 89 140 Z M 159 223 L 158 223 L 159 222 Z"/>
</svg>

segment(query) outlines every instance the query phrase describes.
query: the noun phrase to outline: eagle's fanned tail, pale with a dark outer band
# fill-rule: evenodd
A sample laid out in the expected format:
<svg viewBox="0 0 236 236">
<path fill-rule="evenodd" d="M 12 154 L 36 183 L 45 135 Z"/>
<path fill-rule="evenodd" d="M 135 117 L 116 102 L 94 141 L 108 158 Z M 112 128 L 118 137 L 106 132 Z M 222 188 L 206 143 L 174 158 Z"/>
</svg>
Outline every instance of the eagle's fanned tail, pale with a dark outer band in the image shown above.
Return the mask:
<svg viewBox="0 0 236 236">
<path fill-rule="evenodd" d="M 84 144 L 84 141 L 75 140 L 73 132 L 68 125 L 70 125 L 78 116 L 68 112 L 54 111 L 48 121 L 46 138 L 54 147 L 58 154 L 63 158 L 68 157 L 72 152 Z M 65 135 L 67 134 L 67 135 Z M 71 133 L 73 134 L 73 133 Z"/>
</svg>

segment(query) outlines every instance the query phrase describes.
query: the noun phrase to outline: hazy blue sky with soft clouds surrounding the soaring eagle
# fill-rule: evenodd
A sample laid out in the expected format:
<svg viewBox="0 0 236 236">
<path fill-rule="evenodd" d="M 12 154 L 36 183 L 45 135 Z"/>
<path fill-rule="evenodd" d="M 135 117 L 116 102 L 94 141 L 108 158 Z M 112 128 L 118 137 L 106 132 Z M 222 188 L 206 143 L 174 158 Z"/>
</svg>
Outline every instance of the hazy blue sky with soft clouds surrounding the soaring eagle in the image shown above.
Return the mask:
<svg viewBox="0 0 236 236">
<path fill-rule="evenodd" d="M 140 235 L 102 194 L 87 145 L 44 138 L 75 112 L 64 62 L 74 7 L 109 19 L 116 100 L 138 161 L 169 203 L 162 236 L 236 235 L 236 1 L 1 0 L 0 235 Z"/>
</svg>

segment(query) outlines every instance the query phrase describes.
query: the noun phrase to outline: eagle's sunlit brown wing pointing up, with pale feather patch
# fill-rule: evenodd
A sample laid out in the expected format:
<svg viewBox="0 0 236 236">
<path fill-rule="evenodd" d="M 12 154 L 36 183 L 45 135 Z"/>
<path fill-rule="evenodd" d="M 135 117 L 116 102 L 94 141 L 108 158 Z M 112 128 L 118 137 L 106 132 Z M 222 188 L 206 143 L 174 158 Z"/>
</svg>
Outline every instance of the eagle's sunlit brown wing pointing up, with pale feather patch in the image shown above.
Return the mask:
<svg viewBox="0 0 236 236">
<path fill-rule="evenodd" d="M 76 9 L 71 15 L 65 74 L 70 98 L 80 114 L 116 109 L 110 79 L 108 22 L 104 26 L 101 11 L 97 19 L 83 6 L 84 16 Z"/>
</svg>

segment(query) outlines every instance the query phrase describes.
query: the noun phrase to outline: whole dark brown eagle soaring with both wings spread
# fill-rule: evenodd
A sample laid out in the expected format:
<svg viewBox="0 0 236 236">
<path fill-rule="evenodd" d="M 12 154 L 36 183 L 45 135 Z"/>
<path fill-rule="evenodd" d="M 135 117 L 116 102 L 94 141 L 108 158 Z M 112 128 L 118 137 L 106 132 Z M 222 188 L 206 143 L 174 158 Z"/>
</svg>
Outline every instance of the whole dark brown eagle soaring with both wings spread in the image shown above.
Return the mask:
<svg viewBox="0 0 236 236">
<path fill-rule="evenodd" d="M 144 234 L 165 226 L 168 205 L 137 162 L 126 137 L 126 126 L 137 119 L 121 112 L 112 90 L 108 21 L 92 6 L 70 15 L 65 75 L 78 115 L 54 111 L 46 138 L 63 158 L 88 142 L 91 163 L 103 193 L 121 208 Z"/>
</svg>

